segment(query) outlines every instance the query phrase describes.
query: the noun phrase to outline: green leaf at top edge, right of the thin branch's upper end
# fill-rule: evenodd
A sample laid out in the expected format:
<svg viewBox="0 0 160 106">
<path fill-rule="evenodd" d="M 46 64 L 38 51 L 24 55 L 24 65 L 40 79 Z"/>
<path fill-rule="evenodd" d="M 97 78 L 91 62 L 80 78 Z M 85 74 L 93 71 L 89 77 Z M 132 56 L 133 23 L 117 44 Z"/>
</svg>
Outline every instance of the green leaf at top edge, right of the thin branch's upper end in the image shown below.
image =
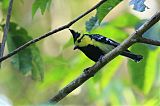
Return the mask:
<svg viewBox="0 0 160 106">
<path fill-rule="evenodd" d="M 123 0 L 107 0 L 100 7 L 97 8 L 96 16 L 98 17 L 99 23 L 103 20 L 103 18 Z"/>
</svg>

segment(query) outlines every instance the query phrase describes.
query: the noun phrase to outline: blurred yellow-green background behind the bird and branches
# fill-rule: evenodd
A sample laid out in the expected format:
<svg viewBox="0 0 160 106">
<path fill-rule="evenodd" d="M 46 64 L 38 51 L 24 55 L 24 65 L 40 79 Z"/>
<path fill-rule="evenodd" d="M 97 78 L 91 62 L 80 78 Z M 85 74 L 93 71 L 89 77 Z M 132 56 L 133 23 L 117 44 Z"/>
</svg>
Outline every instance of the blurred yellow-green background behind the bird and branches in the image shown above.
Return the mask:
<svg viewBox="0 0 160 106">
<path fill-rule="evenodd" d="M 53 0 L 50 8 L 41 15 L 38 10 L 32 16 L 34 0 L 15 0 L 11 21 L 11 30 L 19 38 L 8 39 L 5 54 L 26 41 L 68 23 L 99 0 Z M 127 0 L 115 7 L 103 20 L 101 25 L 90 33 L 99 33 L 122 42 L 135 28 L 144 23 L 160 9 L 160 0 L 146 0 L 150 8 L 144 12 L 136 12 L 128 5 Z M 6 7 L 0 4 L 0 19 L 6 17 Z M 85 23 L 96 11 L 90 13 L 71 28 L 87 33 Z M 18 26 L 21 26 L 20 28 Z M 18 28 L 18 29 L 17 29 Z M 2 38 L 2 31 L 1 31 Z M 24 36 L 29 37 L 24 37 Z M 144 34 L 145 37 L 160 40 L 160 23 L 157 23 Z M 19 40 L 18 40 L 19 39 Z M 21 42 L 25 39 L 25 42 Z M 20 42 L 20 44 L 18 43 Z M 144 59 L 140 63 L 118 56 L 107 64 L 94 78 L 77 88 L 58 105 L 82 106 L 159 106 L 160 105 L 160 48 L 145 44 L 135 44 L 129 48 L 141 54 Z M 30 61 L 31 58 L 35 61 Z M 24 51 L 24 60 L 7 59 L 0 69 L 0 106 L 1 105 L 39 105 L 47 102 L 58 90 L 79 76 L 83 69 L 94 64 L 82 52 L 73 50 L 73 39 L 68 30 L 49 36 L 30 49 Z M 20 55 L 19 55 L 20 57 Z M 19 59 L 18 57 L 18 59 Z M 17 61 L 19 62 L 17 65 Z M 25 63 L 21 63 L 21 62 Z M 30 61 L 30 62 L 28 62 Z M 33 63 L 35 62 L 35 64 Z M 32 64 L 33 66 L 28 66 Z M 22 65 L 23 67 L 20 67 Z M 34 65 L 36 65 L 34 67 Z M 17 68 L 18 67 L 18 68 Z M 36 69 L 36 68 L 40 69 Z M 23 71 L 22 71 L 23 70 Z M 27 72 L 26 70 L 30 70 Z M 44 79 L 34 70 L 43 70 Z M 22 71 L 20 73 L 19 71 Z M 40 76 L 43 77 L 43 71 Z M 31 76 L 32 73 L 32 76 Z M 35 75 L 34 75 L 35 74 Z"/>
</svg>

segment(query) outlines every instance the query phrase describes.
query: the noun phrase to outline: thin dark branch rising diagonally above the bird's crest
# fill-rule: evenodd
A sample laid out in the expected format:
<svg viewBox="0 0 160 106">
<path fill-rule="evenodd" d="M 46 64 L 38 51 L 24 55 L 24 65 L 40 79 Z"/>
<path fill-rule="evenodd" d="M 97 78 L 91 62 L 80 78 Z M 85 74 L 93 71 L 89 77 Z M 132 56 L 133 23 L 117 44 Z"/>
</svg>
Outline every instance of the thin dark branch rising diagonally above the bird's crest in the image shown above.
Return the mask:
<svg viewBox="0 0 160 106">
<path fill-rule="evenodd" d="M 83 18 L 84 16 L 86 16 L 87 14 L 89 14 L 90 12 L 92 12 L 93 10 L 95 10 L 96 8 L 98 8 L 101 4 L 103 4 L 103 3 L 106 2 L 106 1 L 107 1 L 107 0 L 101 0 L 99 3 L 97 3 L 97 4 L 96 4 L 95 6 L 93 6 L 91 9 L 89 9 L 89 10 L 86 11 L 85 13 L 81 14 L 80 16 L 78 16 L 77 18 L 75 18 L 74 20 L 72 20 L 71 22 L 69 22 L 68 24 L 62 25 L 62 26 L 58 27 L 57 29 L 54 29 L 54 30 L 52 30 L 52 31 L 50 31 L 50 32 L 48 32 L 48 33 L 40 36 L 40 37 L 37 37 L 37 38 L 35 38 L 35 39 L 33 39 L 33 40 L 25 43 L 24 45 L 18 47 L 17 49 L 15 49 L 14 51 L 12 51 L 11 53 L 5 55 L 4 57 L 1 57 L 1 58 L 0 58 L 0 62 L 2 62 L 3 60 L 5 60 L 5 59 L 7 59 L 7 58 L 9 58 L 9 57 L 11 57 L 11 56 L 13 56 L 13 55 L 15 55 L 15 54 L 18 53 L 19 51 L 21 51 L 21 50 L 25 49 L 26 47 L 30 46 L 31 44 L 34 44 L 34 43 L 36 43 L 36 42 L 38 42 L 38 41 L 40 41 L 40 40 L 42 40 L 42 39 L 44 39 L 44 38 L 46 38 L 46 37 L 54 34 L 54 33 L 57 33 L 57 32 L 60 32 L 60 31 L 62 31 L 62 30 L 64 30 L 64 29 L 69 28 L 69 27 L 70 27 L 71 25 L 73 25 L 75 22 L 77 22 L 78 20 L 80 20 L 81 18 Z"/>
</svg>

